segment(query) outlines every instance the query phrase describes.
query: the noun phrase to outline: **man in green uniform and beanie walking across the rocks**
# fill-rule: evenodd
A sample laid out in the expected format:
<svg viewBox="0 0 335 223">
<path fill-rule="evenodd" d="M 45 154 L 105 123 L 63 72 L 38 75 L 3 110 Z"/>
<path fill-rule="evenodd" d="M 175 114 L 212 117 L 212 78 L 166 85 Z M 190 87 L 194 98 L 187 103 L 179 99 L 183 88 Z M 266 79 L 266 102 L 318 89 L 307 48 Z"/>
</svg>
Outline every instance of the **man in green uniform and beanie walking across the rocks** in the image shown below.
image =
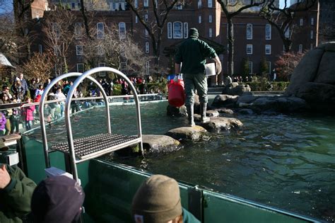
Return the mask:
<svg viewBox="0 0 335 223">
<path fill-rule="evenodd" d="M 207 79 L 205 74 L 206 57 L 216 62 L 216 74 L 221 73 L 221 62 L 215 50 L 202 40 L 199 40 L 196 28 L 189 30 L 189 38 L 178 47 L 175 55 L 175 73 L 183 74 L 187 115 L 189 126 L 194 126 L 194 91 L 199 94 L 201 122 L 208 122 L 207 109 Z M 181 66 L 182 64 L 182 66 Z M 182 67 L 182 69 L 180 69 Z"/>
</svg>

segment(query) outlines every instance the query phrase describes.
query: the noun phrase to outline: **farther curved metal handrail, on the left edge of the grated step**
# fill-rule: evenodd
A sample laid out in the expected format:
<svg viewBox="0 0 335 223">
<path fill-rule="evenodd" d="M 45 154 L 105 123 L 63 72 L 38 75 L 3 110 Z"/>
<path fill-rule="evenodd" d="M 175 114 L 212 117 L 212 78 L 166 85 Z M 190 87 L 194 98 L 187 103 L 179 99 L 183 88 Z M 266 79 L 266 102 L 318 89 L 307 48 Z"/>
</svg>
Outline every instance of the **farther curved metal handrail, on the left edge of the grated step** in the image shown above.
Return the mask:
<svg viewBox="0 0 335 223">
<path fill-rule="evenodd" d="M 62 79 L 71 77 L 71 76 L 81 76 L 82 73 L 78 72 L 70 72 L 67 74 L 63 74 L 61 76 L 57 76 L 55 79 L 53 79 L 50 84 L 47 85 L 45 88 L 45 91 L 43 91 L 42 96 L 40 98 L 40 107 L 38 108 L 39 113 L 40 113 L 40 126 L 41 126 L 41 131 L 42 131 L 42 142 L 43 142 L 43 148 L 45 152 L 45 166 L 47 168 L 50 167 L 50 160 L 49 160 L 49 152 L 48 152 L 48 145 L 47 145 L 47 131 L 45 130 L 45 119 L 44 119 L 44 106 L 45 106 L 45 98 L 47 98 L 47 94 L 51 90 L 51 88 L 54 86 L 54 84 L 57 84 L 58 81 L 61 81 Z M 97 80 L 95 80 L 93 77 L 89 76 L 88 79 L 93 81 L 95 84 L 100 85 Z M 107 107 L 108 113 L 109 109 Z"/>
</svg>

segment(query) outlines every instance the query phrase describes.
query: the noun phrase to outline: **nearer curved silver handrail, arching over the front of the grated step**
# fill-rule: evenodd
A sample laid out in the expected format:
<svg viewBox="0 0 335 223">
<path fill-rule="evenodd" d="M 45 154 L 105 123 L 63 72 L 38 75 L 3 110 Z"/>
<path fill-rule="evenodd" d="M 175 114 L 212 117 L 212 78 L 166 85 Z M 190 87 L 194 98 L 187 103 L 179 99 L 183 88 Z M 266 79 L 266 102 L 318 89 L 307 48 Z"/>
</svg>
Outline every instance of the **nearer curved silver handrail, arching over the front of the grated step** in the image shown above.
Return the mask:
<svg viewBox="0 0 335 223">
<path fill-rule="evenodd" d="M 76 81 L 74 81 L 74 85 L 71 87 L 67 97 L 66 97 L 66 103 L 65 103 L 65 124 L 66 124 L 66 132 L 67 132 L 67 138 L 69 143 L 69 150 L 70 150 L 70 159 L 71 159 L 71 168 L 72 168 L 72 174 L 74 176 L 74 179 L 78 181 L 78 170 L 76 167 L 76 154 L 74 151 L 74 138 L 72 135 L 72 128 L 71 128 L 71 120 L 70 120 L 70 104 L 71 99 L 74 96 L 74 92 L 78 85 L 86 79 L 86 77 L 90 77 L 90 75 L 98 73 L 98 72 L 113 72 L 114 74 L 117 74 L 121 76 L 125 81 L 127 81 L 127 84 L 129 84 L 131 91 L 134 93 L 134 99 L 136 103 L 136 116 L 137 116 L 137 130 L 138 130 L 138 137 L 142 139 L 142 129 L 141 129 L 141 112 L 140 112 L 140 104 L 139 104 L 139 97 L 136 93 L 136 88 L 131 83 L 131 81 L 128 79 L 128 77 L 123 74 L 122 72 L 119 72 L 117 69 L 111 68 L 111 67 L 96 67 L 93 69 L 88 70 L 87 72 L 84 72 L 81 76 L 79 76 Z M 102 96 L 105 99 L 105 105 L 107 108 L 107 130 L 108 133 L 111 133 L 110 130 L 110 111 L 109 111 L 109 103 L 107 99 L 107 95 L 105 93 L 105 90 L 102 88 L 100 84 L 97 84 L 100 88 L 100 91 L 102 92 Z M 141 153 L 143 154 L 143 144 L 142 140 L 140 142 L 140 149 Z"/>
</svg>

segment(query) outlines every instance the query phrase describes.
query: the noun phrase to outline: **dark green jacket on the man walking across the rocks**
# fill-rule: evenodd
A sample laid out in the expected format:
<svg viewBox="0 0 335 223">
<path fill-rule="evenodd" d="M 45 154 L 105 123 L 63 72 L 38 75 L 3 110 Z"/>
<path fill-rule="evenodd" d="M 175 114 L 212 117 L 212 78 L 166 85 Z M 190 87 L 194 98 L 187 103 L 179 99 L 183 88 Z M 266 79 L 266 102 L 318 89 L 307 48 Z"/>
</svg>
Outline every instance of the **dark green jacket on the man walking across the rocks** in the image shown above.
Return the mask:
<svg viewBox="0 0 335 223">
<path fill-rule="evenodd" d="M 175 62 L 182 63 L 182 74 L 205 72 L 206 57 L 216 57 L 212 47 L 198 38 L 188 38 L 178 47 Z"/>
</svg>

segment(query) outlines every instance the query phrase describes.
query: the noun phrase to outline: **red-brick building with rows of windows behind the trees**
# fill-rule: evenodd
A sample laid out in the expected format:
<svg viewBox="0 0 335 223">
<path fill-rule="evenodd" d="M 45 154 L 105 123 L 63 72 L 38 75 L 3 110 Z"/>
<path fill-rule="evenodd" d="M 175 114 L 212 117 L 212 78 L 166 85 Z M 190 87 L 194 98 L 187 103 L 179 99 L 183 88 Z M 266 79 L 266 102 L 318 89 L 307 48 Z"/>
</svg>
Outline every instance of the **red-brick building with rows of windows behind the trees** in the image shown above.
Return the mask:
<svg viewBox="0 0 335 223">
<path fill-rule="evenodd" d="M 87 6 L 90 9 L 98 11 L 95 15 L 97 28 L 99 28 L 98 23 L 100 19 L 103 18 L 107 21 L 106 25 L 115 24 L 119 28 L 119 32 L 126 35 L 127 33 L 136 33 L 136 42 L 141 46 L 143 52 L 152 55 L 151 41 L 146 29 L 139 22 L 139 19 L 136 18 L 135 14 L 129 10 L 124 0 L 98 2 L 98 5 L 93 6 L 92 4 L 88 4 Z M 147 11 L 144 14 L 145 20 L 154 21 L 153 13 L 150 10 L 152 7 L 151 1 L 134 0 L 134 2 L 135 5 L 143 4 L 145 6 L 144 9 Z M 55 2 L 52 4 L 55 4 Z M 50 4 L 50 8 L 52 8 L 52 4 Z M 66 4 L 66 8 L 79 15 L 80 3 L 78 1 L 67 0 L 62 1 L 62 4 Z M 293 51 L 303 52 L 317 46 L 318 7 L 319 4 L 316 4 L 310 11 L 297 13 L 297 16 L 295 16 L 295 28 L 294 30 L 290 30 L 291 32 L 294 31 Z M 46 14 L 48 13 L 53 13 L 53 11 L 48 11 Z M 41 17 L 40 13 L 35 14 Z M 235 38 L 234 74 L 242 74 L 242 63 L 245 60 L 247 60 L 250 74 L 259 73 L 261 59 L 265 59 L 270 73 L 271 69 L 275 68 L 274 62 L 276 61 L 276 57 L 283 52 L 283 41 L 280 35 L 278 35 L 276 28 L 272 27 L 263 18 L 257 16 L 257 13 L 252 12 L 252 10 L 235 16 L 233 23 Z M 185 38 L 188 38 L 188 30 L 192 27 L 198 28 L 201 38 L 216 42 L 218 45 L 228 45 L 227 23 L 225 14 L 221 12 L 220 4 L 214 0 L 192 0 L 187 5 L 176 6 L 169 14 L 163 30 L 162 46 L 160 47 L 160 66 L 171 67 L 173 63 L 170 62 L 170 58 L 165 57 L 164 50 L 168 47 L 174 47 Z M 39 41 L 36 42 L 33 48 L 42 51 L 44 49 L 42 38 Z M 81 50 L 83 51 L 82 53 L 85 53 L 85 47 L 81 48 Z M 84 62 L 82 57 L 77 56 L 78 48 L 76 45 L 73 46 L 72 53 L 73 57 L 70 60 L 71 71 L 83 72 Z M 219 57 L 223 64 L 222 73 L 227 74 L 228 52 L 224 52 Z M 151 73 L 151 64 L 153 64 L 153 61 L 147 62 L 145 74 Z M 101 61 L 96 64 L 97 67 L 102 65 L 105 65 L 105 62 Z M 218 77 L 218 84 L 221 84 L 223 74 Z"/>
</svg>

